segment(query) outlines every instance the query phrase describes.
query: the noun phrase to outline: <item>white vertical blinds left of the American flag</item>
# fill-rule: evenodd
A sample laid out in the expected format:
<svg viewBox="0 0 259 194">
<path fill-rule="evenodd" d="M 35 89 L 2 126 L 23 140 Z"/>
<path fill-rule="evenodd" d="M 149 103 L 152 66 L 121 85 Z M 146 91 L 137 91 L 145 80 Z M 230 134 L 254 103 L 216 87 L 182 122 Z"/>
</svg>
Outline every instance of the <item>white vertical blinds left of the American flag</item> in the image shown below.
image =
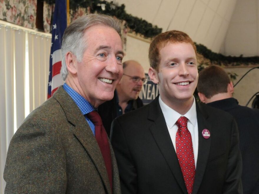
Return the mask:
<svg viewBox="0 0 259 194">
<path fill-rule="evenodd" d="M 51 34 L 40 33 L 0 20 L 1 194 L 4 193 L 5 188 L 3 173 L 10 140 L 23 122 L 26 109 L 27 112 L 31 112 L 47 99 L 50 47 Z M 28 66 L 29 75 L 25 71 L 26 66 Z M 29 78 L 27 84 L 26 78 Z M 29 101 L 26 101 L 26 98 L 29 98 Z"/>
</svg>

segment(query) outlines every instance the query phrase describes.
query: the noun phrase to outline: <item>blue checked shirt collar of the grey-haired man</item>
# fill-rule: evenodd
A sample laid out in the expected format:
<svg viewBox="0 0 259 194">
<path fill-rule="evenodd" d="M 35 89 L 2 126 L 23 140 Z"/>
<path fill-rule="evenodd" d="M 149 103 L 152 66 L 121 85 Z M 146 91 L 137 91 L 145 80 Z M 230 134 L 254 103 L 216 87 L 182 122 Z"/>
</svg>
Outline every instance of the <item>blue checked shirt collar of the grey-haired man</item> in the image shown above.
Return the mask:
<svg viewBox="0 0 259 194">
<path fill-rule="evenodd" d="M 71 96 L 73 101 L 77 104 L 78 108 L 83 115 L 94 111 L 94 107 L 73 88 L 69 87 L 66 83 L 63 85 L 64 90 Z"/>
</svg>

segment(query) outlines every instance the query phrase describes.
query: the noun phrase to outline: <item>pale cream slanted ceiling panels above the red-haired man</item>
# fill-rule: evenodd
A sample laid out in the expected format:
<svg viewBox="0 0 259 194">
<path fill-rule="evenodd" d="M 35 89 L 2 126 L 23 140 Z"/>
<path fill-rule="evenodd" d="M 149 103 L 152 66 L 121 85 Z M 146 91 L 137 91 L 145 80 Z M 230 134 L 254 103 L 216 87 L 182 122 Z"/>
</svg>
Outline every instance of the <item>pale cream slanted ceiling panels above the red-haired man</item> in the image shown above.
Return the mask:
<svg viewBox="0 0 259 194">
<path fill-rule="evenodd" d="M 222 47 L 237 0 L 109 0 L 163 29 L 184 31 L 214 52 Z M 246 2 L 246 0 L 240 0 Z M 250 0 L 251 1 L 251 0 Z M 240 12 L 243 16 L 243 13 Z"/>
</svg>

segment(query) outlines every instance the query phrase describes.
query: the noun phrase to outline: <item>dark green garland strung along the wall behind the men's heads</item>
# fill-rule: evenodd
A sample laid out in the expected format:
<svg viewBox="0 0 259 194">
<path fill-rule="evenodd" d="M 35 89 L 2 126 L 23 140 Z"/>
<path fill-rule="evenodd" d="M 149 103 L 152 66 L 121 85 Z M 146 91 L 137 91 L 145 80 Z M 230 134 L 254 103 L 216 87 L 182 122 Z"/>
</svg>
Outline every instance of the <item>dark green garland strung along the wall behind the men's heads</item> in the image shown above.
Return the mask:
<svg viewBox="0 0 259 194">
<path fill-rule="evenodd" d="M 54 4 L 55 0 L 42 0 L 46 1 L 48 4 Z M 105 5 L 105 9 L 102 9 L 101 4 Z M 127 26 L 132 31 L 142 34 L 146 38 L 152 38 L 157 34 L 162 32 L 162 28 L 158 28 L 157 26 L 153 26 L 151 23 L 148 23 L 146 20 L 137 18 L 132 16 L 131 14 L 127 14 L 125 11 L 125 5 L 121 6 L 113 4 L 113 1 L 101 1 L 101 0 L 70 0 L 69 1 L 70 9 L 76 10 L 78 7 L 82 8 L 90 8 L 90 12 L 101 14 L 108 14 L 111 16 L 116 16 L 118 19 L 125 20 L 127 22 Z M 202 54 L 205 58 L 209 59 L 212 63 L 216 63 L 218 65 L 228 66 L 240 66 L 241 64 L 249 65 L 249 64 L 259 64 L 259 56 L 253 57 L 243 57 L 240 55 L 237 56 L 224 56 L 220 53 L 214 53 L 210 49 L 207 49 L 206 46 L 202 44 L 196 44 L 197 52 Z"/>
</svg>

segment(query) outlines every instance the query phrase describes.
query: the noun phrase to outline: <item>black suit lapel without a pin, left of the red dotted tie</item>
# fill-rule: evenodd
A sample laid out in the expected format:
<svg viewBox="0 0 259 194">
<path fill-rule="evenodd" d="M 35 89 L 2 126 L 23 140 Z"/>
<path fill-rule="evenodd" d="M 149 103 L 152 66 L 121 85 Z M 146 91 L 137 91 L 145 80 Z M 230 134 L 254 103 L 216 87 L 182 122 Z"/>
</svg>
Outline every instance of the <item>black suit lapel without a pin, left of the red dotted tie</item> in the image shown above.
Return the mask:
<svg viewBox="0 0 259 194">
<path fill-rule="evenodd" d="M 152 133 L 162 155 L 170 167 L 172 174 L 175 176 L 175 179 L 182 188 L 182 191 L 185 193 L 186 186 L 182 176 L 182 171 L 180 169 L 178 158 L 165 123 L 164 115 L 159 105 L 158 96 L 150 103 L 148 119 L 154 121 L 153 125 L 150 127 L 150 132 Z"/>
</svg>

